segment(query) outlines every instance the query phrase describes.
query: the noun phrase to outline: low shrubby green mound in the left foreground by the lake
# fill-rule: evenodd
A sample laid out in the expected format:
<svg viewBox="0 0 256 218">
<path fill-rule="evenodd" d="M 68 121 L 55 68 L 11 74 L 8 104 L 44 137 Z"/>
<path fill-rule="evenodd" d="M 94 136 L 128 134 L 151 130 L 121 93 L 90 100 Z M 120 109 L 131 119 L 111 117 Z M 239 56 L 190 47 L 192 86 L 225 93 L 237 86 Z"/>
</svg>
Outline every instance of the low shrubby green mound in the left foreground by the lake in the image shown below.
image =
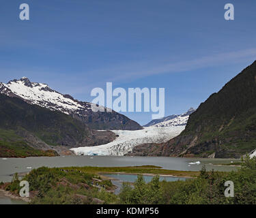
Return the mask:
<svg viewBox="0 0 256 218">
<path fill-rule="evenodd" d="M 100 181 L 95 187 L 94 175 L 79 170 L 42 167 L 32 170 L 22 180 L 29 182 L 31 204 L 113 204 L 117 201 L 117 196 L 106 190 L 113 189 L 110 181 Z M 18 193 L 19 184 L 18 175 L 14 174 L 5 190 Z"/>
</svg>

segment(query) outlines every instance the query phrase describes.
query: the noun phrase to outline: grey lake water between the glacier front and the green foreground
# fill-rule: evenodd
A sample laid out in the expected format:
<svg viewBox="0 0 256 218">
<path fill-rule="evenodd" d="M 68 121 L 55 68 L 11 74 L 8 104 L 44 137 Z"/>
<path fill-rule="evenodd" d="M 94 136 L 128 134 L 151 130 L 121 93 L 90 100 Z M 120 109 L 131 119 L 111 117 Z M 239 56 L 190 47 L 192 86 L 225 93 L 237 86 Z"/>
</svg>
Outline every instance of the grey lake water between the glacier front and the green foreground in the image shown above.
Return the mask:
<svg viewBox="0 0 256 218">
<path fill-rule="evenodd" d="M 200 161 L 200 164 L 189 164 Z M 232 166 L 214 166 L 212 164 L 230 163 L 236 159 L 203 159 L 203 158 L 177 158 L 177 157 L 104 157 L 104 156 L 66 156 L 66 157 L 27 157 L 27 158 L 0 158 L 0 182 L 12 181 L 12 174 L 30 172 L 32 169 L 65 166 L 160 166 L 167 170 L 201 170 L 203 164 L 207 170 L 231 171 Z M 133 178 L 132 178 L 133 179 Z M 115 185 L 115 184 L 114 184 Z M 117 190 L 118 191 L 118 190 Z M 25 204 L 23 201 L 11 200 L 0 196 L 0 204 Z"/>
</svg>

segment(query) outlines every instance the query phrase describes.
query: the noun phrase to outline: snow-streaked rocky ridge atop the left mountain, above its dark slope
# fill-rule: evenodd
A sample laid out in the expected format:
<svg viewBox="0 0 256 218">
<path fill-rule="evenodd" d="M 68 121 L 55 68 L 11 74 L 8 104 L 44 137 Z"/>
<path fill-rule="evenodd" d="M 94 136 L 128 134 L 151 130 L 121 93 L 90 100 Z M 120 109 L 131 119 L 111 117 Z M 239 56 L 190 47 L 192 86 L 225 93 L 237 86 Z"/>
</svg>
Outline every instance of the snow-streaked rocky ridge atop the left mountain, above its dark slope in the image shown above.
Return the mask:
<svg viewBox="0 0 256 218">
<path fill-rule="evenodd" d="M 47 84 L 31 82 L 26 77 L 11 80 L 7 84 L 0 82 L 0 93 L 9 97 L 19 97 L 29 104 L 71 114 L 85 121 L 93 129 L 141 129 L 138 123 L 122 114 L 106 111 L 106 108 L 105 112 L 93 112 L 91 107 L 94 104 L 79 102 L 70 95 L 63 95 L 51 89 Z"/>
</svg>

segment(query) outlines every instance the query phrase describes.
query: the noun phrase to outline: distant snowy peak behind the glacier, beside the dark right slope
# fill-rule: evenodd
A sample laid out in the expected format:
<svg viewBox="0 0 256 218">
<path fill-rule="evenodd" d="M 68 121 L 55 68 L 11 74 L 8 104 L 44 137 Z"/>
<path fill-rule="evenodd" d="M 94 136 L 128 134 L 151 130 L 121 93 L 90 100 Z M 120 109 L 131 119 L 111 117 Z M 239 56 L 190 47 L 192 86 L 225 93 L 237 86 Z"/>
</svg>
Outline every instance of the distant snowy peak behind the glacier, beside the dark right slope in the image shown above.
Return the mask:
<svg viewBox="0 0 256 218">
<path fill-rule="evenodd" d="M 156 119 L 150 121 L 150 123 L 147 123 L 144 125 L 144 127 L 174 127 L 174 126 L 185 126 L 188 122 L 188 117 L 190 114 L 192 114 L 195 111 L 194 108 L 190 108 L 186 113 L 184 114 L 174 114 L 171 116 L 166 116 L 162 119 Z"/>
</svg>

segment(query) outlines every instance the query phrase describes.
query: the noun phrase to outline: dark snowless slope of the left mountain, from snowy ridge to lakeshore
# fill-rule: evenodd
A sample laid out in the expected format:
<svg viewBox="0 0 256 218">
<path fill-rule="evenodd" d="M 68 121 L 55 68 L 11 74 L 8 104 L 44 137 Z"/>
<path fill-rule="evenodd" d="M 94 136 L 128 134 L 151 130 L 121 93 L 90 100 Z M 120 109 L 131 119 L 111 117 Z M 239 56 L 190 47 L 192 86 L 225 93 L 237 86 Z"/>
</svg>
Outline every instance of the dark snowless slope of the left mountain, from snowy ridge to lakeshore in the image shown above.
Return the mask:
<svg viewBox="0 0 256 218">
<path fill-rule="evenodd" d="M 42 151 L 68 151 L 74 146 L 94 146 L 114 139 L 111 131 L 91 130 L 68 114 L 0 94 L 1 157 L 40 156 Z"/>
</svg>

